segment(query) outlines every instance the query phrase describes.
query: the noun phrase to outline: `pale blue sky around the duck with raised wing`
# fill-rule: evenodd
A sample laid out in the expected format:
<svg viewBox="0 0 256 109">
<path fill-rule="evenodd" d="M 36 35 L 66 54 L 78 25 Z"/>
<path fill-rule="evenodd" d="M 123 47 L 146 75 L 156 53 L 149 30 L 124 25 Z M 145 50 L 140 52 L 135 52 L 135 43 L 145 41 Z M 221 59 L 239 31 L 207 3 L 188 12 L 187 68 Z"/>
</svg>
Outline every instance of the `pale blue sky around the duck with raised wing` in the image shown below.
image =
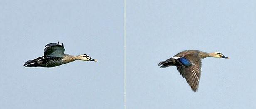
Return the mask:
<svg viewBox="0 0 256 109">
<path fill-rule="evenodd" d="M 0 109 L 124 108 L 123 0 L 1 0 L 0 8 Z M 97 62 L 23 66 L 57 41 Z"/>
</svg>

